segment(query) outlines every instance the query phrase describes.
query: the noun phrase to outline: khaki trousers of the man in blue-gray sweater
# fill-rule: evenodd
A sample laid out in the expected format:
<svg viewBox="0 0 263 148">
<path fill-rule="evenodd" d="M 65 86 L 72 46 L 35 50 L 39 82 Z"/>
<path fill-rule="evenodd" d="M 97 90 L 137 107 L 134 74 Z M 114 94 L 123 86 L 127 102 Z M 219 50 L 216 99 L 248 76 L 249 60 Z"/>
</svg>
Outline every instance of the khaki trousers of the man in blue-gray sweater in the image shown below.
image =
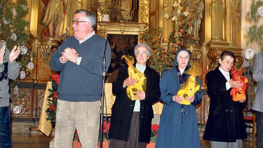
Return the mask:
<svg viewBox="0 0 263 148">
<path fill-rule="evenodd" d="M 72 148 L 76 128 L 82 148 L 97 148 L 99 124 L 100 100 L 94 102 L 58 100 L 55 148 Z"/>
</svg>

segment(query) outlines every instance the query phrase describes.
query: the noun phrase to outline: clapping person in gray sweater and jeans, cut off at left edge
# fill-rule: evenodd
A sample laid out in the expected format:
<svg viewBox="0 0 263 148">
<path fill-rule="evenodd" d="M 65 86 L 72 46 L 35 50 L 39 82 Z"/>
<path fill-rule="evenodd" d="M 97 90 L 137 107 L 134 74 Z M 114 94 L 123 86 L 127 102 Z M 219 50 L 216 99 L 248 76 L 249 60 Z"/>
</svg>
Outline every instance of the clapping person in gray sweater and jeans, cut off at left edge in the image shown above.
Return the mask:
<svg viewBox="0 0 263 148">
<path fill-rule="evenodd" d="M 15 60 L 20 49 L 15 46 L 10 52 L 5 45 L 0 45 L 0 48 L 0 147 L 11 148 L 8 79 L 15 80 L 19 75 L 19 66 Z"/>
</svg>

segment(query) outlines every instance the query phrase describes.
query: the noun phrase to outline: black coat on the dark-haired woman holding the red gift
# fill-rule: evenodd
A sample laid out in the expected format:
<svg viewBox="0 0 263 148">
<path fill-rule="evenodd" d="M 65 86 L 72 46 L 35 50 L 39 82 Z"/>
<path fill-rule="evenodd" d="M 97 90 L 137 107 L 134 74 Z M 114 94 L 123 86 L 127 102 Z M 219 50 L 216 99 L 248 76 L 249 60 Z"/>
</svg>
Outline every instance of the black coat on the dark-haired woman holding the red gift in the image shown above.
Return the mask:
<svg viewBox="0 0 263 148">
<path fill-rule="evenodd" d="M 227 80 L 218 68 L 208 72 L 206 80 L 210 107 L 203 139 L 236 142 L 247 138 L 242 114 L 244 103 L 232 100 L 231 89 L 226 90 Z"/>
</svg>

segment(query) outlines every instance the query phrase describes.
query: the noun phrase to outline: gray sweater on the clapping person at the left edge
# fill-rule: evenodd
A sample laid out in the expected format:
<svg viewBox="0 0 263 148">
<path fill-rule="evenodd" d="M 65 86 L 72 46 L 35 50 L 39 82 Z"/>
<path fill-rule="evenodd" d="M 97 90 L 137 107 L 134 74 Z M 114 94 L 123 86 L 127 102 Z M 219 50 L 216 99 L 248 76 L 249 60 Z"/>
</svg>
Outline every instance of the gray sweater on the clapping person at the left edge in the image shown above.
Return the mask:
<svg viewBox="0 0 263 148">
<path fill-rule="evenodd" d="M 2 46 L 0 45 L 0 48 Z M 9 106 L 9 79 L 15 80 L 19 75 L 19 66 L 16 61 L 9 61 L 10 51 L 6 48 L 3 64 L 0 63 L 0 107 Z"/>
</svg>

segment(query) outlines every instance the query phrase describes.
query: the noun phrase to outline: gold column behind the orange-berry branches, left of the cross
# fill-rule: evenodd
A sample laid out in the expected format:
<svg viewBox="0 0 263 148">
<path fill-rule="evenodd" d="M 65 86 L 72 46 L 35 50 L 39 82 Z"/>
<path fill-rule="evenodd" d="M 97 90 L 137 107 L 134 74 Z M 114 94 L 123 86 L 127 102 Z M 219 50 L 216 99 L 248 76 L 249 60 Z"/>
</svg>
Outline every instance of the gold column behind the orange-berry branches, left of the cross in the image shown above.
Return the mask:
<svg viewBox="0 0 263 148">
<path fill-rule="evenodd" d="M 166 14 L 173 14 L 174 0 L 163 0 L 163 42 L 168 42 L 170 33 L 174 30 L 174 22 L 172 21 L 172 17 L 165 19 L 164 16 Z"/>
</svg>

